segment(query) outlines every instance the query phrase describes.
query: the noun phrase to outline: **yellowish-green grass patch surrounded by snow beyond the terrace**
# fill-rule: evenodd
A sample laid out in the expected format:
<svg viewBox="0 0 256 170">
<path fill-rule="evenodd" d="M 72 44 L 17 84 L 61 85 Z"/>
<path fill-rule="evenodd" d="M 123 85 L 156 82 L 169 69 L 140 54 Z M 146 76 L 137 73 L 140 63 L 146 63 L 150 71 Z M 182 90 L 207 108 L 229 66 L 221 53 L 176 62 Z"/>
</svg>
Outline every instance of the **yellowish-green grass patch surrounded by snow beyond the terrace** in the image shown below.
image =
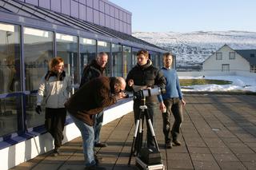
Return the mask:
<svg viewBox="0 0 256 170">
<path fill-rule="evenodd" d="M 179 79 L 181 86 L 190 86 L 190 85 L 230 85 L 232 81 L 222 81 L 222 80 L 207 80 L 207 79 Z"/>
</svg>

